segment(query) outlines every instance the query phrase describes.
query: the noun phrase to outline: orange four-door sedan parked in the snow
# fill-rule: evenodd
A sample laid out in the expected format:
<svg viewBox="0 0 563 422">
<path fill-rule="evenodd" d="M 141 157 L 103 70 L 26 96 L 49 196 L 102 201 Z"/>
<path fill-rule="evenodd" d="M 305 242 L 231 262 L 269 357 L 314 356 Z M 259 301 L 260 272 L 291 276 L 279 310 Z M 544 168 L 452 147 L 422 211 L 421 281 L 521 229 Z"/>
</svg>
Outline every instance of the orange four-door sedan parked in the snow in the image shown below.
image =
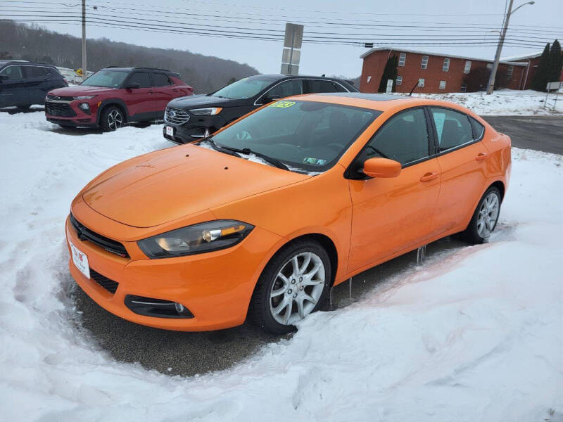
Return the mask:
<svg viewBox="0 0 563 422">
<path fill-rule="evenodd" d="M 509 177 L 510 138 L 456 104 L 285 98 L 91 181 L 66 222 L 70 272 L 138 324 L 286 333 L 360 271 L 486 241 Z"/>
</svg>

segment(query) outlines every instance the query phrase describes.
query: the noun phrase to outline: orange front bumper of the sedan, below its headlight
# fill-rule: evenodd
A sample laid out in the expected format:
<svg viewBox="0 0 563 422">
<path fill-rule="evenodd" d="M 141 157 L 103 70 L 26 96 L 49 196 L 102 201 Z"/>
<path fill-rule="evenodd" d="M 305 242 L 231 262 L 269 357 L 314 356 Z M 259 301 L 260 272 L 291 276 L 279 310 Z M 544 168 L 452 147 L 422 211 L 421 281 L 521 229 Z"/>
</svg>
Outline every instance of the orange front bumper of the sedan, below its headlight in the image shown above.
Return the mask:
<svg viewBox="0 0 563 422">
<path fill-rule="evenodd" d="M 65 231 L 68 241 L 87 255 L 89 267 L 95 273 L 118 283 L 115 293 L 111 293 L 92 276 L 87 279 L 71 258 L 70 274 L 90 298 L 128 321 L 176 331 L 209 331 L 242 324 L 270 250 L 281 240 L 255 227 L 232 248 L 186 257 L 132 260 L 113 255 L 89 241 L 80 241 L 70 219 Z M 193 317 L 137 314 L 125 305 L 127 295 L 178 302 Z"/>
</svg>

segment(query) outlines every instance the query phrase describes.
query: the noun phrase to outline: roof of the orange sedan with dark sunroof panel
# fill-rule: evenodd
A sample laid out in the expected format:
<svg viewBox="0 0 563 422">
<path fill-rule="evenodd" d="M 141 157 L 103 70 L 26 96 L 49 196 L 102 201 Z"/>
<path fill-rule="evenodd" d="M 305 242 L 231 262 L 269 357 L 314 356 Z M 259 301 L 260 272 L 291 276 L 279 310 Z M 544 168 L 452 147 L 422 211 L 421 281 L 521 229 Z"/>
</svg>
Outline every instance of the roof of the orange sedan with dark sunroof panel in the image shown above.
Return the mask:
<svg viewBox="0 0 563 422">
<path fill-rule="evenodd" d="M 363 92 L 331 92 L 320 94 L 305 94 L 284 98 L 284 101 L 294 99 L 303 101 L 318 101 L 342 106 L 368 108 L 371 110 L 387 111 L 400 110 L 417 106 L 441 106 L 460 110 L 462 113 L 475 115 L 471 110 L 450 101 L 432 100 L 430 98 L 412 97 L 393 94 L 365 94 Z"/>
</svg>

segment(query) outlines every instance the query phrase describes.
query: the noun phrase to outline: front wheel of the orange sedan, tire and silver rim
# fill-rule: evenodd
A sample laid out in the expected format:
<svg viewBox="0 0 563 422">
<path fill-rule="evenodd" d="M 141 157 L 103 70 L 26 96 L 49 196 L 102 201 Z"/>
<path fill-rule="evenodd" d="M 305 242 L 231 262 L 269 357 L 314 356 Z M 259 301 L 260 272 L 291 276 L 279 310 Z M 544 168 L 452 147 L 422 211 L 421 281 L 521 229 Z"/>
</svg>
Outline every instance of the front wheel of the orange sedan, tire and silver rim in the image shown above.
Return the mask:
<svg viewBox="0 0 563 422">
<path fill-rule="evenodd" d="M 248 312 L 265 331 L 291 333 L 296 330 L 296 321 L 322 306 L 330 281 L 330 260 L 322 245 L 312 240 L 296 241 L 268 262 Z"/>
</svg>

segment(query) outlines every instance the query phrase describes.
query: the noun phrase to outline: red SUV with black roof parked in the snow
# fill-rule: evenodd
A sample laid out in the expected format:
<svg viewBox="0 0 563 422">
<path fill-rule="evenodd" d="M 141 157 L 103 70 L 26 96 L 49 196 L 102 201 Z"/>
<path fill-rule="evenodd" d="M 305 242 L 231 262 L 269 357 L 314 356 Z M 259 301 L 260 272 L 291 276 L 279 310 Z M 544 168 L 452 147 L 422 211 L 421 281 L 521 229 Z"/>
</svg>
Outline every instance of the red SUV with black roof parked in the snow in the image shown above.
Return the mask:
<svg viewBox="0 0 563 422">
<path fill-rule="evenodd" d="M 49 91 L 45 115 L 61 127 L 109 131 L 130 122 L 163 119 L 170 100 L 192 94 L 194 90 L 170 70 L 110 67 L 75 87 Z"/>
</svg>

